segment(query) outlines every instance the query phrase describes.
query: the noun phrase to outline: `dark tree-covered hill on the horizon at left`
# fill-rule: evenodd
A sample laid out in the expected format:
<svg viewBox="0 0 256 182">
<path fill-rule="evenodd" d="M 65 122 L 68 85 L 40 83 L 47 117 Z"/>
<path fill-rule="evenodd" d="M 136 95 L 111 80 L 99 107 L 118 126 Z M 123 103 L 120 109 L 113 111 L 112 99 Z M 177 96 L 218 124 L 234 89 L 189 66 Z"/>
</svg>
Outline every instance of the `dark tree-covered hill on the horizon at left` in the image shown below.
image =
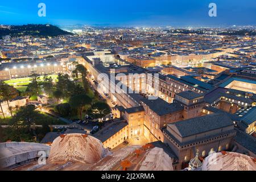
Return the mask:
<svg viewBox="0 0 256 182">
<path fill-rule="evenodd" d="M 12 37 L 25 35 L 45 37 L 73 34 L 49 24 L 27 24 L 22 26 L 9 26 L 8 28 L 0 27 L 0 38 L 6 35 Z"/>
</svg>

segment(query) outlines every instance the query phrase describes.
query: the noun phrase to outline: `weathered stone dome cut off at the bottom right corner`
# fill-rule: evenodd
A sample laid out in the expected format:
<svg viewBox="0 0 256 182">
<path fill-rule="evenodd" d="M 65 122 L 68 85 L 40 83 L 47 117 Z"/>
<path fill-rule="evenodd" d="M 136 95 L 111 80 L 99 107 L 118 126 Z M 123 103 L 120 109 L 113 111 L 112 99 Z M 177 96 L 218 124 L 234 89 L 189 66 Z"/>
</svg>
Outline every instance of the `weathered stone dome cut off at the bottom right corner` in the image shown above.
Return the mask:
<svg viewBox="0 0 256 182">
<path fill-rule="evenodd" d="M 247 155 L 218 152 L 205 158 L 202 171 L 256 171 L 256 163 Z"/>
</svg>

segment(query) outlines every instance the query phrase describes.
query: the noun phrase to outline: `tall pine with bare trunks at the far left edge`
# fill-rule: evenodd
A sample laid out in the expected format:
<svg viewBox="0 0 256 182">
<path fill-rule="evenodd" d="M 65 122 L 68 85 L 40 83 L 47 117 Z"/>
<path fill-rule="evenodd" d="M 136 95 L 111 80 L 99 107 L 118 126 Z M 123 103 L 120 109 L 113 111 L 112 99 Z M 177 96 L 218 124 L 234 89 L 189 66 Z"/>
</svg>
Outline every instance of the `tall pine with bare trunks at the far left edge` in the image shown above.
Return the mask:
<svg viewBox="0 0 256 182">
<path fill-rule="evenodd" d="M 3 101 L 7 102 L 11 116 L 13 116 L 13 111 L 9 105 L 9 101 L 14 99 L 18 95 L 19 95 L 18 91 L 13 86 L 5 84 L 5 82 L 3 81 L 0 82 L 0 97 L 2 98 Z M 1 109 L 2 109 L 2 105 L 1 105 Z"/>
</svg>

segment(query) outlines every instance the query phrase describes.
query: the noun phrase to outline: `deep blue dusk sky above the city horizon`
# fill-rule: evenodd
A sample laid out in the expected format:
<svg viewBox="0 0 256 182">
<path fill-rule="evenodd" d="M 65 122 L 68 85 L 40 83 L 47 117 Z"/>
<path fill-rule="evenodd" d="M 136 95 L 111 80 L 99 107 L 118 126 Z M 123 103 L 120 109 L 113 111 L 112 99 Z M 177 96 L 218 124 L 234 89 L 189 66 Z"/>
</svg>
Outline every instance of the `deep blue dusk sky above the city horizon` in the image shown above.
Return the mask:
<svg viewBox="0 0 256 182">
<path fill-rule="evenodd" d="M 38 4 L 46 3 L 46 17 Z M 208 16 L 210 2 L 217 17 Z M 256 25 L 255 0 L 1 0 L 0 24 L 108 24 L 110 26 Z"/>
</svg>

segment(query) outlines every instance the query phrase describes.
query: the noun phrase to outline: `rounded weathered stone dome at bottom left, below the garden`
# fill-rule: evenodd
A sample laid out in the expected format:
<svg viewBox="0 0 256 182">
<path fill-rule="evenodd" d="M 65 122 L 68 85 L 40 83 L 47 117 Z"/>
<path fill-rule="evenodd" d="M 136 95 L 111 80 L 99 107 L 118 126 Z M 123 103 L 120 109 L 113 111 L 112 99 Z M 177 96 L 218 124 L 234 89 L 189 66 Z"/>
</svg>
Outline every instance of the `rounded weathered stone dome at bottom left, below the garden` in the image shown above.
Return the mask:
<svg viewBox="0 0 256 182">
<path fill-rule="evenodd" d="M 108 154 L 101 141 L 92 136 L 67 134 L 53 141 L 48 162 L 94 164 Z"/>
</svg>

